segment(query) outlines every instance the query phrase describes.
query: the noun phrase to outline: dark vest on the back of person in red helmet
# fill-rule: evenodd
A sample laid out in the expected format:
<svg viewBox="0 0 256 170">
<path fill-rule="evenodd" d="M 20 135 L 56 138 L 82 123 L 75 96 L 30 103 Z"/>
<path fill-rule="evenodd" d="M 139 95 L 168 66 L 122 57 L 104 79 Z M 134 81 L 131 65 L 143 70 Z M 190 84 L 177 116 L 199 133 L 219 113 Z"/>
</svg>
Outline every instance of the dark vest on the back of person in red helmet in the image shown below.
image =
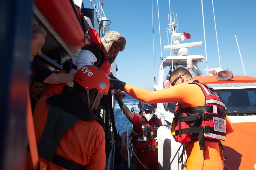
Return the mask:
<svg viewBox="0 0 256 170">
<path fill-rule="evenodd" d="M 67 99 L 72 102 L 67 102 Z M 44 132 L 37 144 L 38 155 L 66 169 L 86 169 L 86 166 L 63 158 L 56 154 L 56 151 L 62 137 L 80 120 L 97 120 L 105 129 L 100 114 L 97 110 L 91 111 L 87 104 L 72 94 L 51 96 L 47 98 L 46 102 L 49 104 L 49 110 Z M 76 103 L 78 107 L 74 107 L 73 103 Z M 27 150 L 29 151 L 29 147 Z"/>
</svg>

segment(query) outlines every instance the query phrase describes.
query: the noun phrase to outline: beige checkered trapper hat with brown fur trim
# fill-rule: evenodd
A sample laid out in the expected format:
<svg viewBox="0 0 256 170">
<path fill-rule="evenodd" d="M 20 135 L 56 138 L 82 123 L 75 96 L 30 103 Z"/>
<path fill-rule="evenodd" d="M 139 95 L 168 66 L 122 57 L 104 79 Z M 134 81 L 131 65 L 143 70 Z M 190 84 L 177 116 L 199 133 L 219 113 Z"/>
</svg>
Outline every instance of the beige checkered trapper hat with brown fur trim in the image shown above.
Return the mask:
<svg viewBox="0 0 256 170">
<path fill-rule="evenodd" d="M 121 48 L 120 51 L 123 51 L 126 44 L 126 39 L 124 36 L 120 35 L 119 32 L 117 31 L 107 32 L 106 35 L 101 39 L 101 49 L 106 53 L 107 56 L 110 56 L 110 48 L 113 42 L 118 43 L 118 45 Z M 116 56 L 108 59 L 110 64 L 114 62 Z"/>
</svg>

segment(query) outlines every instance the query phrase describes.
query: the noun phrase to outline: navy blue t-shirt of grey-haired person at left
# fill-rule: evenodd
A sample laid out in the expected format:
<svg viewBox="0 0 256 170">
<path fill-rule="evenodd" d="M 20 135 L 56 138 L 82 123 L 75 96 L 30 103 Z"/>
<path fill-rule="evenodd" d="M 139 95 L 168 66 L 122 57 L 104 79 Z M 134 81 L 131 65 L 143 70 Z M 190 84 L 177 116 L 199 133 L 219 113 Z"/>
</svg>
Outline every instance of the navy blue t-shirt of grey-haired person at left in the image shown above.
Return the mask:
<svg viewBox="0 0 256 170">
<path fill-rule="evenodd" d="M 47 67 L 37 62 L 36 59 L 34 58 L 28 70 L 30 85 L 32 84 L 33 81 L 38 81 L 40 83 L 43 83 L 44 80 L 47 77 L 49 77 L 52 73 L 53 72 L 50 69 L 48 69 Z"/>
</svg>

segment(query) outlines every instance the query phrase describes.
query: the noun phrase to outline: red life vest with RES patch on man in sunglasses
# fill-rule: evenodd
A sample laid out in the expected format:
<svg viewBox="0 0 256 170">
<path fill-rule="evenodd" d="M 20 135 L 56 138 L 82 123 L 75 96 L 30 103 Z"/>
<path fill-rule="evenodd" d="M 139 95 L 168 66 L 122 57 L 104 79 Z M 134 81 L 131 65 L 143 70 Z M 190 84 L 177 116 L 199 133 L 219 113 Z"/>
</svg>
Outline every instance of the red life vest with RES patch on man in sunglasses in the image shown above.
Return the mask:
<svg viewBox="0 0 256 170">
<path fill-rule="evenodd" d="M 226 139 L 226 107 L 213 88 L 198 82 L 205 95 L 205 106 L 176 107 L 175 140 L 187 143 L 198 138 L 200 150 L 205 150 L 204 141 L 219 142 Z"/>
</svg>

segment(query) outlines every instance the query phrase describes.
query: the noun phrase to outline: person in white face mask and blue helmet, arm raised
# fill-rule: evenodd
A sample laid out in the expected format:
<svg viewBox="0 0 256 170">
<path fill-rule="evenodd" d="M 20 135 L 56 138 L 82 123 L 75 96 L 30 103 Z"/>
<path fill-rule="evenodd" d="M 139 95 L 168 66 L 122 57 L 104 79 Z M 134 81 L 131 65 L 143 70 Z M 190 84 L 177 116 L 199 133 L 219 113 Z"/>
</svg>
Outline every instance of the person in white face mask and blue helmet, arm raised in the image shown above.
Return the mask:
<svg viewBox="0 0 256 170">
<path fill-rule="evenodd" d="M 129 110 L 123 103 L 122 95 L 115 96 L 120 109 L 125 116 L 133 124 L 132 129 L 132 144 L 133 149 L 136 149 L 136 169 L 157 170 L 158 169 L 158 154 L 157 154 L 157 129 L 163 126 L 160 119 L 154 115 L 156 103 L 148 104 L 141 102 L 142 112 L 135 114 Z M 145 166 L 141 165 L 141 163 Z"/>
</svg>

